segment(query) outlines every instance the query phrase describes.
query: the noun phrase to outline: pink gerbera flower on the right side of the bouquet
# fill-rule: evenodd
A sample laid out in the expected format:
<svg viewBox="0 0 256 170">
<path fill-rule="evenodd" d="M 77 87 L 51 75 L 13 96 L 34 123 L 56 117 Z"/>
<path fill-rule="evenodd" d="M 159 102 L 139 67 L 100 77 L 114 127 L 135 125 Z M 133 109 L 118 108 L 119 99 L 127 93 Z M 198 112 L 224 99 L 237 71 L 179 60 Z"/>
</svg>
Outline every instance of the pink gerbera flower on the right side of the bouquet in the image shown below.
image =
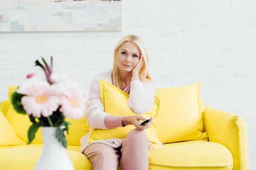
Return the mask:
<svg viewBox="0 0 256 170">
<path fill-rule="evenodd" d="M 67 96 L 61 96 L 60 111 L 67 118 L 80 119 L 82 116 L 84 116 L 85 101 L 86 99 L 82 91 L 73 91 Z"/>
</svg>

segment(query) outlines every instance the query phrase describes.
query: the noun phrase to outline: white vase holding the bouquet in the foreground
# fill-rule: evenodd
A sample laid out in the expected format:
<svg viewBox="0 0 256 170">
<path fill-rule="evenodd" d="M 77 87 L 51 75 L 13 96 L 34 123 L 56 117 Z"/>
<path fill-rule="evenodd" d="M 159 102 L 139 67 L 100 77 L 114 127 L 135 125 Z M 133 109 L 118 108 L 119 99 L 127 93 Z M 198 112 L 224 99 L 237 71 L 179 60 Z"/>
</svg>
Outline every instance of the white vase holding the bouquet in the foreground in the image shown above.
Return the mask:
<svg viewBox="0 0 256 170">
<path fill-rule="evenodd" d="M 75 170 L 66 149 L 55 137 L 56 127 L 41 127 L 43 152 L 34 170 Z"/>
</svg>

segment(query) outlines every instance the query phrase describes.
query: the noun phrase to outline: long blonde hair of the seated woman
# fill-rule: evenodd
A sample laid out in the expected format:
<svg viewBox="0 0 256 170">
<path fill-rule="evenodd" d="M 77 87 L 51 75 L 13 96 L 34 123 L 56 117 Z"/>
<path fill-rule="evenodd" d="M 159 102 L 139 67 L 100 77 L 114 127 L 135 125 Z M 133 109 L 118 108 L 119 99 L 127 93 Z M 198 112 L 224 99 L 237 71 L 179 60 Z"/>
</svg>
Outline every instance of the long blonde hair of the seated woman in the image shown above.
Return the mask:
<svg viewBox="0 0 256 170">
<path fill-rule="evenodd" d="M 143 57 L 144 60 L 144 65 L 140 70 L 139 73 L 139 78 L 142 81 L 151 81 L 151 77 L 148 73 L 148 54 L 147 51 L 143 45 L 143 42 L 141 40 L 140 37 L 136 36 L 136 35 L 126 35 L 125 37 L 123 37 L 121 40 L 119 40 L 119 42 L 117 42 L 116 44 L 116 48 L 114 51 L 114 57 L 113 57 L 113 85 L 115 85 L 116 87 L 120 88 L 121 86 L 121 76 L 119 74 L 119 69 L 116 63 L 116 53 L 118 52 L 119 48 L 122 46 L 122 44 L 124 42 L 133 42 L 136 45 L 138 45 L 138 47 L 140 48 L 141 54 L 140 57 Z"/>
</svg>

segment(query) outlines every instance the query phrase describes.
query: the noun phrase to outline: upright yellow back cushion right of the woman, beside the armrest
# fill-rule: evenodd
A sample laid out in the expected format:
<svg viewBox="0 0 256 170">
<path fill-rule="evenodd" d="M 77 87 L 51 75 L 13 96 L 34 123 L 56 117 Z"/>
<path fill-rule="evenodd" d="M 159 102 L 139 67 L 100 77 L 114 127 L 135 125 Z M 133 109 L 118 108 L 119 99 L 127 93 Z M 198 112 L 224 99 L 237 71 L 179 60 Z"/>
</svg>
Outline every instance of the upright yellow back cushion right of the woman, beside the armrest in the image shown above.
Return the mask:
<svg viewBox="0 0 256 170">
<path fill-rule="evenodd" d="M 157 136 L 165 143 L 208 140 L 202 133 L 200 82 L 158 89 L 160 110 L 156 119 Z"/>
</svg>

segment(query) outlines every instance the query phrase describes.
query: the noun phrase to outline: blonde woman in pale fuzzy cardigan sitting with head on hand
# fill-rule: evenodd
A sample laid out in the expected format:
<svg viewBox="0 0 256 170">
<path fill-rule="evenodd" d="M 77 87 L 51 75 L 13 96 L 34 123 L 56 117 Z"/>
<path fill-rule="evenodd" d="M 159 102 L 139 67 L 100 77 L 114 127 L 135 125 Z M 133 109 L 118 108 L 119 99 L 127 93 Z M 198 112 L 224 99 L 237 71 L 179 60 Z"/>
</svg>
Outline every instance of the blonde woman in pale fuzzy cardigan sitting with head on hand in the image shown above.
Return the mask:
<svg viewBox="0 0 256 170">
<path fill-rule="evenodd" d="M 129 94 L 128 105 L 134 116 L 112 116 L 104 112 L 99 91 L 99 79 L 105 79 Z M 146 118 L 140 114 L 149 111 L 154 104 L 156 88 L 148 74 L 148 55 L 140 37 L 127 35 L 116 45 L 113 69 L 97 75 L 91 82 L 87 102 L 86 119 L 92 129 L 110 129 L 134 125 L 125 139 L 98 140 L 87 143 L 90 132 L 81 138 L 81 152 L 93 163 L 93 170 L 148 170 L 148 150 L 152 149 L 146 133 L 154 121 L 140 122 Z"/>
</svg>

